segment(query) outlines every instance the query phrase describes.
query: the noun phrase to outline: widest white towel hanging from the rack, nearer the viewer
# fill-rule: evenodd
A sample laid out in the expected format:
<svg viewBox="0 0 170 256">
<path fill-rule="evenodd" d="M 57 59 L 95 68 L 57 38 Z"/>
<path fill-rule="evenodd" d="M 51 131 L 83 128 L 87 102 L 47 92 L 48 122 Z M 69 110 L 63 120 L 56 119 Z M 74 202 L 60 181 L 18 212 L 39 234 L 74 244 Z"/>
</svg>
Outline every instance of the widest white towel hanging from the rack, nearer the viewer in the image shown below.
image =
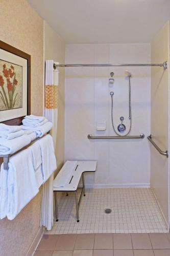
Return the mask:
<svg viewBox="0 0 170 256">
<path fill-rule="evenodd" d="M 27 148 L 10 158 L 7 218 L 13 220 L 37 193 L 32 152 Z"/>
</svg>

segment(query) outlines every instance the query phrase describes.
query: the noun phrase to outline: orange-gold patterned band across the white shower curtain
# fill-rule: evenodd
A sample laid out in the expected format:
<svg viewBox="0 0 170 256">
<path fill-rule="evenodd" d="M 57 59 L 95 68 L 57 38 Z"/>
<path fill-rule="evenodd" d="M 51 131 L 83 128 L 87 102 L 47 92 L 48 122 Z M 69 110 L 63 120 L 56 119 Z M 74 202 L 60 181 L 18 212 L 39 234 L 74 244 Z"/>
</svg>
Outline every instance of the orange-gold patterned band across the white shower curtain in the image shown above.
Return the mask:
<svg viewBox="0 0 170 256">
<path fill-rule="evenodd" d="M 58 86 L 54 86 L 54 85 L 45 86 L 45 108 L 46 109 L 58 108 Z"/>
</svg>

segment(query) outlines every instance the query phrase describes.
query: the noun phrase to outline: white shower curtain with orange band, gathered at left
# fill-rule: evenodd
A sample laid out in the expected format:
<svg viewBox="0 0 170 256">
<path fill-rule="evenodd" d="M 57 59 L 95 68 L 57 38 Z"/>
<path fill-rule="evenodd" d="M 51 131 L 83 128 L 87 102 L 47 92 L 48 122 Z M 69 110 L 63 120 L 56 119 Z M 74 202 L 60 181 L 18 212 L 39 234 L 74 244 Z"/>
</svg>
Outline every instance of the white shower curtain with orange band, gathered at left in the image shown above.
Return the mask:
<svg viewBox="0 0 170 256">
<path fill-rule="evenodd" d="M 45 61 L 45 109 L 44 116 L 53 123 L 51 135 L 56 149 L 58 118 L 58 76 L 53 68 L 53 60 Z M 58 62 L 55 62 L 58 64 Z M 53 226 L 53 180 L 54 175 L 43 184 L 41 198 L 41 225 L 50 230 Z"/>
</svg>

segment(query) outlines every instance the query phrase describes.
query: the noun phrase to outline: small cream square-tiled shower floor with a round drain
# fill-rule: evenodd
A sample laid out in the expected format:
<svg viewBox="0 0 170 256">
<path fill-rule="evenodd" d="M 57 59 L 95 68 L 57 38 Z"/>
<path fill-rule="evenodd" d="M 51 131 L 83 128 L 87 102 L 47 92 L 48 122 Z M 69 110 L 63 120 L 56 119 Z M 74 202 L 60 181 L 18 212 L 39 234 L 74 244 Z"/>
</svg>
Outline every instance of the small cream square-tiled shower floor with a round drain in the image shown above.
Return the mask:
<svg viewBox="0 0 170 256">
<path fill-rule="evenodd" d="M 46 234 L 167 232 L 150 188 L 86 189 L 79 223 L 74 193 L 62 193 L 58 206 L 59 221 Z M 111 214 L 105 214 L 105 208 L 111 208 Z"/>
</svg>

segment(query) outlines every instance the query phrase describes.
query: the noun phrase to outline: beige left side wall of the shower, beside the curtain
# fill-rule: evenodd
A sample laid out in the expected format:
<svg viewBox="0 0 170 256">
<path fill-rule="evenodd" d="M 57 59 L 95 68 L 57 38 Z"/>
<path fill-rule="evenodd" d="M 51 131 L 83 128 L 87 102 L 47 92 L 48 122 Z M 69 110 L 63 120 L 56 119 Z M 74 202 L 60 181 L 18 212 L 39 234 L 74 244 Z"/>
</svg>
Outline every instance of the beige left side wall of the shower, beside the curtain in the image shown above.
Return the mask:
<svg viewBox="0 0 170 256">
<path fill-rule="evenodd" d="M 44 59 L 53 59 L 65 63 L 64 40 L 44 22 Z M 58 102 L 58 127 L 57 127 L 57 170 L 64 162 L 64 94 L 65 73 L 64 68 L 59 68 L 59 102 Z"/>
</svg>

